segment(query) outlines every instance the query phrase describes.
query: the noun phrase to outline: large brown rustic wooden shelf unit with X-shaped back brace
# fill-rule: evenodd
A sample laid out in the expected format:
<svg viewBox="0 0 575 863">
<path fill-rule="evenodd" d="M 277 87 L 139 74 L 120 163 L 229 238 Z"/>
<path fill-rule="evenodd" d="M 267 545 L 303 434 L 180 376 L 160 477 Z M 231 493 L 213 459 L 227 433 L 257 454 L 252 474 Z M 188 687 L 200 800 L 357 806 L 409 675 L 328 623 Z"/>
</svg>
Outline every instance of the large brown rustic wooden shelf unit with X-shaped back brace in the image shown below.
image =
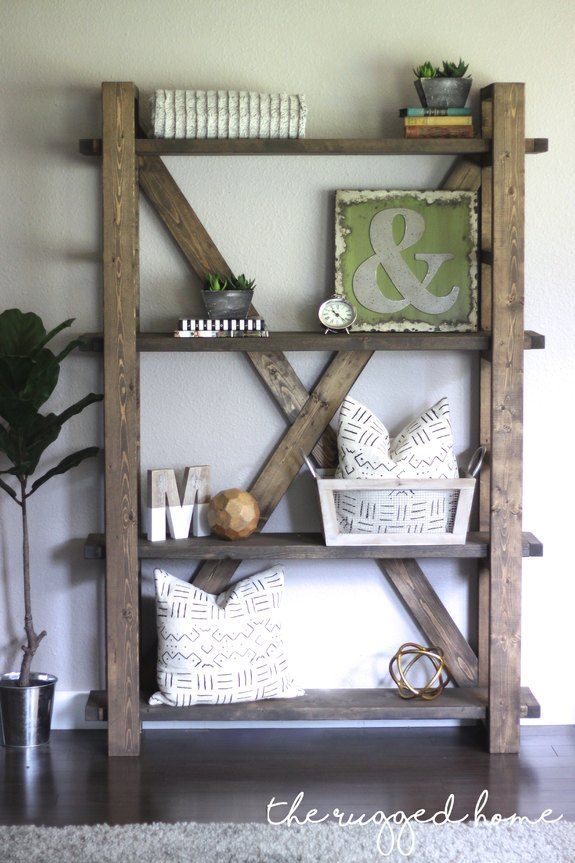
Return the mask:
<svg viewBox="0 0 575 863">
<path fill-rule="evenodd" d="M 102 157 L 104 223 L 104 335 L 85 336 L 84 348 L 102 350 L 104 360 L 106 532 L 105 538 L 88 538 L 86 555 L 106 559 L 107 691 L 90 694 L 87 717 L 107 718 L 111 755 L 139 753 L 142 719 L 262 718 L 482 719 L 491 752 L 517 752 L 520 718 L 539 715 L 531 692 L 520 685 L 521 559 L 542 553 L 521 523 L 523 352 L 544 346 L 542 336 L 523 327 L 524 160 L 526 153 L 545 152 L 547 141 L 525 139 L 523 84 L 492 84 L 481 91 L 481 104 L 482 134 L 474 139 L 159 141 L 137 137 L 133 84 L 102 85 L 102 138 L 80 142 L 82 153 Z M 231 273 L 161 156 L 431 154 L 461 157 L 443 188 L 481 189 L 480 332 L 272 333 L 269 339 L 214 343 L 139 331 L 140 190 L 200 278 L 210 271 Z M 476 650 L 410 556 L 413 547 L 328 548 L 319 535 L 265 532 L 241 543 L 209 537 L 152 545 L 139 538 L 139 354 L 213 350 L 245 356 L 289 425 L 250 488 L 260 503 L 262 528 L 297 476 L 302 451 L 320 467 L 333 465 L 329 423 L 375 350 L 480 352 L 479 437 L 489 451 L 479 488 L 480 532 L 470 533 L 464 545 L 417 549 L 418 557 L 478 559 Z M 311 392 L 284 353 L 295 350 L 332 353 Z M 372 558 L 425 639 L 444 649 L 457 688 L 432 703 L 406 704 L 392 690 L 352 689 L 312 690 L 289 702 L 150 707 L 140 694 L 139 567 L 141 559 L 162 557 L 202 560 L 194 583 L 214 593 L 245 559 Z"/>
</svg>

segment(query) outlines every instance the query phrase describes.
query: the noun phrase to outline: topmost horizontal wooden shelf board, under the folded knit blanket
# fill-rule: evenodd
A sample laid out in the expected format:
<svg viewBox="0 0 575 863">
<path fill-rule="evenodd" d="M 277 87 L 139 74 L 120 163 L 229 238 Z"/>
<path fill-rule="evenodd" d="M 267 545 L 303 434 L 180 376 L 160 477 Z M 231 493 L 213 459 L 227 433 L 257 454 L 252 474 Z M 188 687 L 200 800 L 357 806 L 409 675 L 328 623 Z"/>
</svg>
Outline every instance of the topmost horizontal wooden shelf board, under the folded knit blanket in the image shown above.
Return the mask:
<svg viewBox="0 0 575 863">
<path fill-rule="evenodd" d="M 80 153 L 99 156 L 100 138 L 82 138 Z M 547 138 L 526 138 L 526 153 L 545 153 Z M 426 156 L 489 153 L 488 138 L 137 138 L 136 153 L 154 156 Z"/>
</svg>

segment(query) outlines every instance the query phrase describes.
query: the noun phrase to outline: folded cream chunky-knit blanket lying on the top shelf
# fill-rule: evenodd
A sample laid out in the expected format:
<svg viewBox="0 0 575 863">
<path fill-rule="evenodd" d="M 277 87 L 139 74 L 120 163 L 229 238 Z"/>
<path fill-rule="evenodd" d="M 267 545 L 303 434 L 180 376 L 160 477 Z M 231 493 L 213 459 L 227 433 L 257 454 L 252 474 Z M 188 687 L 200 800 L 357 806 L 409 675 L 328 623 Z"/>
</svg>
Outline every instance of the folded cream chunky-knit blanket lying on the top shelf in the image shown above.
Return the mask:
<svg viewBox="0 0 575 863">
<path fill-rule="evenodd" d="M 156 90 L 156 138 L 303 138 L 305 96 L 247 90 Z"/>
</svg>

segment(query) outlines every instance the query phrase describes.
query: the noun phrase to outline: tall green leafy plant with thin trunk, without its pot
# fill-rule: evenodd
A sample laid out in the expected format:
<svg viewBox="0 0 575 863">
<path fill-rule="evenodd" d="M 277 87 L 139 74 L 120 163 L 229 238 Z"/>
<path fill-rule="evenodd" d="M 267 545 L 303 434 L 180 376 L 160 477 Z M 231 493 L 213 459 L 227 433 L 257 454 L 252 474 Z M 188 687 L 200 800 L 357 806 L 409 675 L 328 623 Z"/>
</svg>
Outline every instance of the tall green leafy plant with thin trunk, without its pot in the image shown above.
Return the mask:
<svg viewBox="0 0 575 863">
<path fill-rule="evenodd" d="M 45 450 L 57 439 L 64 423 L 102 399 L 101 395 L 90 393 L 59 414 L 40 412 L 56 388 L 62 361 L 80 340 L 73 339 L 59 353 L 53 353 L 46 345 L 73 321 L 70 318 L 47 332 L 41 318 L 31 312 L 8 309 L 0 314 L 0 489 L 20 507 L 22 515 L 26 642 L 22 645 L 20 686 L 30 685 L 32 659 L 46 635 L 45 631 L 35 631 L 32 619 L 27 502 L 52 477 L 66 473 L 98 452 L 94 446 L 70 453 L 32 479 Z"/>
</svg>

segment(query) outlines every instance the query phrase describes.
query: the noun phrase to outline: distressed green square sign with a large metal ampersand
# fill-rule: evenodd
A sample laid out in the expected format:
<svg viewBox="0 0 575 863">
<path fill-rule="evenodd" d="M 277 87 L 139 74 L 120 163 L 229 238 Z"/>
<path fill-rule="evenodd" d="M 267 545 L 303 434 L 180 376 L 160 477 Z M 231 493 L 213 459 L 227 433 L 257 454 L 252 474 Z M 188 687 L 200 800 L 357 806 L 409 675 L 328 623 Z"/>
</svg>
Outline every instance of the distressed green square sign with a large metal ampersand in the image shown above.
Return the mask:
<svg viewBox="0 0 575 863">
<path fill-rule="evenodd" d="M 352 330 L 477 329 L 475 192 L 339 191 L 335 221 Z"/>
</svg>

